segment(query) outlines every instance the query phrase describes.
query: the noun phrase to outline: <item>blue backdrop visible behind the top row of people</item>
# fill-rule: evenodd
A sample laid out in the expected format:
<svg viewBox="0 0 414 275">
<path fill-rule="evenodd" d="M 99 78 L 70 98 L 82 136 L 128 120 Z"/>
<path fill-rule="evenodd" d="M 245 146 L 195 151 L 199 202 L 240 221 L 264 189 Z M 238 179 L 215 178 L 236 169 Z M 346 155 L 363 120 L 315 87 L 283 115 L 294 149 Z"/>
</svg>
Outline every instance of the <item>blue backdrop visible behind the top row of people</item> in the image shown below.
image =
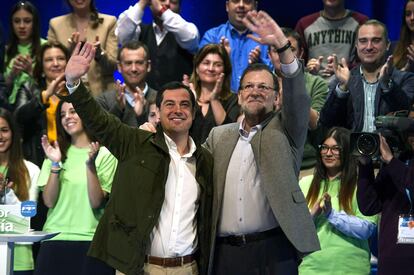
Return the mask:
<svg viewBox="0 0 414 275">
<path fill-rule="evenodd" d="M 9 13 L 15 0 L 0 1 L 0 18 L 6 35 L 9 33 Z M 182 0 L 181 14 L 193 22 L 203 35 L 211 27 L 227 20 L 225 0 Z M 49 19 L 69 12 L 65 0 L 32 0 L 41 16 L 42 37 L 46 38 Z M 116 17 L 136 1 L 95 0 L 98 10 Z M 404 0 L 348 0 L 348 9 L 356 10 L 384 22 L 390 32 L 390 39 L 397 40 L 401 26 Z M 322 0 L 259 0 L 259 10 L 268 12 L 281 26 L 294 27 L 299 18 L 322 9 Z M 144 21 L 151 20 L 149 11 Z"/>
</svg>

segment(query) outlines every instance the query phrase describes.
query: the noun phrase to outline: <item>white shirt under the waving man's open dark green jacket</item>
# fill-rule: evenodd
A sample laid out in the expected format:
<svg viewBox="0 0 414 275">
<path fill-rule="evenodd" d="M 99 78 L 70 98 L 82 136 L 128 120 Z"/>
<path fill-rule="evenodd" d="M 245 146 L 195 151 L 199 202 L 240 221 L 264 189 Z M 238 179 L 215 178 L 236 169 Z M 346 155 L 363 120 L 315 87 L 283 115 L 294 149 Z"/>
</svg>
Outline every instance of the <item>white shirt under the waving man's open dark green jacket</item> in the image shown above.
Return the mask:
<svg viewBox="0 0 414 275">
<path fill-rule="evenodd" d="M 157 225 L 151 233 L 148 255 L 162 258 L 193 254 L 197 250 L 196 213 L 200 187 L 195 179 L 196 150 L 190 138 L 189 153 L 180 156 L 175 142 L 165 133 L 171 161 L 165 184 L 165 199 Z"/>
</svg>

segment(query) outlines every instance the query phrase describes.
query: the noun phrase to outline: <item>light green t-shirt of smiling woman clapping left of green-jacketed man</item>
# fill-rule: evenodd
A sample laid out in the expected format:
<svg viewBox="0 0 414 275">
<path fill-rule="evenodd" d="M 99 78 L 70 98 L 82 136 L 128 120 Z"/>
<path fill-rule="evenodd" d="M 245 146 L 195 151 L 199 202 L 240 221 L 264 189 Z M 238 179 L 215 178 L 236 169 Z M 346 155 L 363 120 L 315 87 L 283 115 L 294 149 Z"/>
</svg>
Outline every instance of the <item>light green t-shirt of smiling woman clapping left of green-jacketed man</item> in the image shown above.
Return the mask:
<svg viewBox="0 0 414 275">
<path fill-rule="evenodd" d="M 60 190 L 56 205 L 49 208 L 43 230 L 60 232 L 52 240 L 91 241 L 104 209 L 92 209 L 89 204 L 86 165 L 89 148 L 70 146 L 67 159 L 59 174 Z M 37 185 L 41 190 L 47 184 L 52 163 L 43 162 Z M 95 160 L 96 171 L 102 190 L 110 193 L 117 167 L 116 158 L 101 147 Z"/>
</svg>

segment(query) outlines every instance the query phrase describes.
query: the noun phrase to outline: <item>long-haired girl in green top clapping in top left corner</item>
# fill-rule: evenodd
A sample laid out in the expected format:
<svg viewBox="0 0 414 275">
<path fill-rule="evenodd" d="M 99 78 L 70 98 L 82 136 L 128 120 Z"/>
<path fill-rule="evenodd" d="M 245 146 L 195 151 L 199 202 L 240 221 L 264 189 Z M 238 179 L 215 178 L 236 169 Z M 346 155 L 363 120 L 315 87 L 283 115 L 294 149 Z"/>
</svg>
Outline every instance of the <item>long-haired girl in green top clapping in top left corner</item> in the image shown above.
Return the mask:
<svg viewBox="0 0 414 275">
<path fill-rule="evenodd" d="M 6 45 L 5 80 L 10 94 L 1 104 L 13 111 L 17 91 L 32 81 L 34 59 L 40 52 L 40 20 L 37 9 L 29 1 L 18 1 L 10 14 L 10 38 Z M 3 101 L 3 100 L 2 100 Z"/>
</svg>

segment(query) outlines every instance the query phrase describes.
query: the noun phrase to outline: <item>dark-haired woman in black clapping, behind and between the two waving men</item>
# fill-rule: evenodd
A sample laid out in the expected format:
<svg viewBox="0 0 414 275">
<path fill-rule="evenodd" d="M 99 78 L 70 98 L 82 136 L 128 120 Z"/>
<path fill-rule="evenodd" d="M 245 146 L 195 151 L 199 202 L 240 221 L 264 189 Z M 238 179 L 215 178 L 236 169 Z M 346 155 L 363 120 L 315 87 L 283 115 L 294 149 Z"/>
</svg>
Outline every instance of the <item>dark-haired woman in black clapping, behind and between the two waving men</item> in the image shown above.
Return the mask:
<svg viewBox="0 0 414 275">
<path fill-rule="evenodd" d="M 231 63 L 223 46 L 207 44 L 194 56 L 190 87 L 198 104 L 191 136 L 196 143 L 203 143 L 213 127 L 235 122 L 240 115 L 230 80 Z"/>
</svg>

